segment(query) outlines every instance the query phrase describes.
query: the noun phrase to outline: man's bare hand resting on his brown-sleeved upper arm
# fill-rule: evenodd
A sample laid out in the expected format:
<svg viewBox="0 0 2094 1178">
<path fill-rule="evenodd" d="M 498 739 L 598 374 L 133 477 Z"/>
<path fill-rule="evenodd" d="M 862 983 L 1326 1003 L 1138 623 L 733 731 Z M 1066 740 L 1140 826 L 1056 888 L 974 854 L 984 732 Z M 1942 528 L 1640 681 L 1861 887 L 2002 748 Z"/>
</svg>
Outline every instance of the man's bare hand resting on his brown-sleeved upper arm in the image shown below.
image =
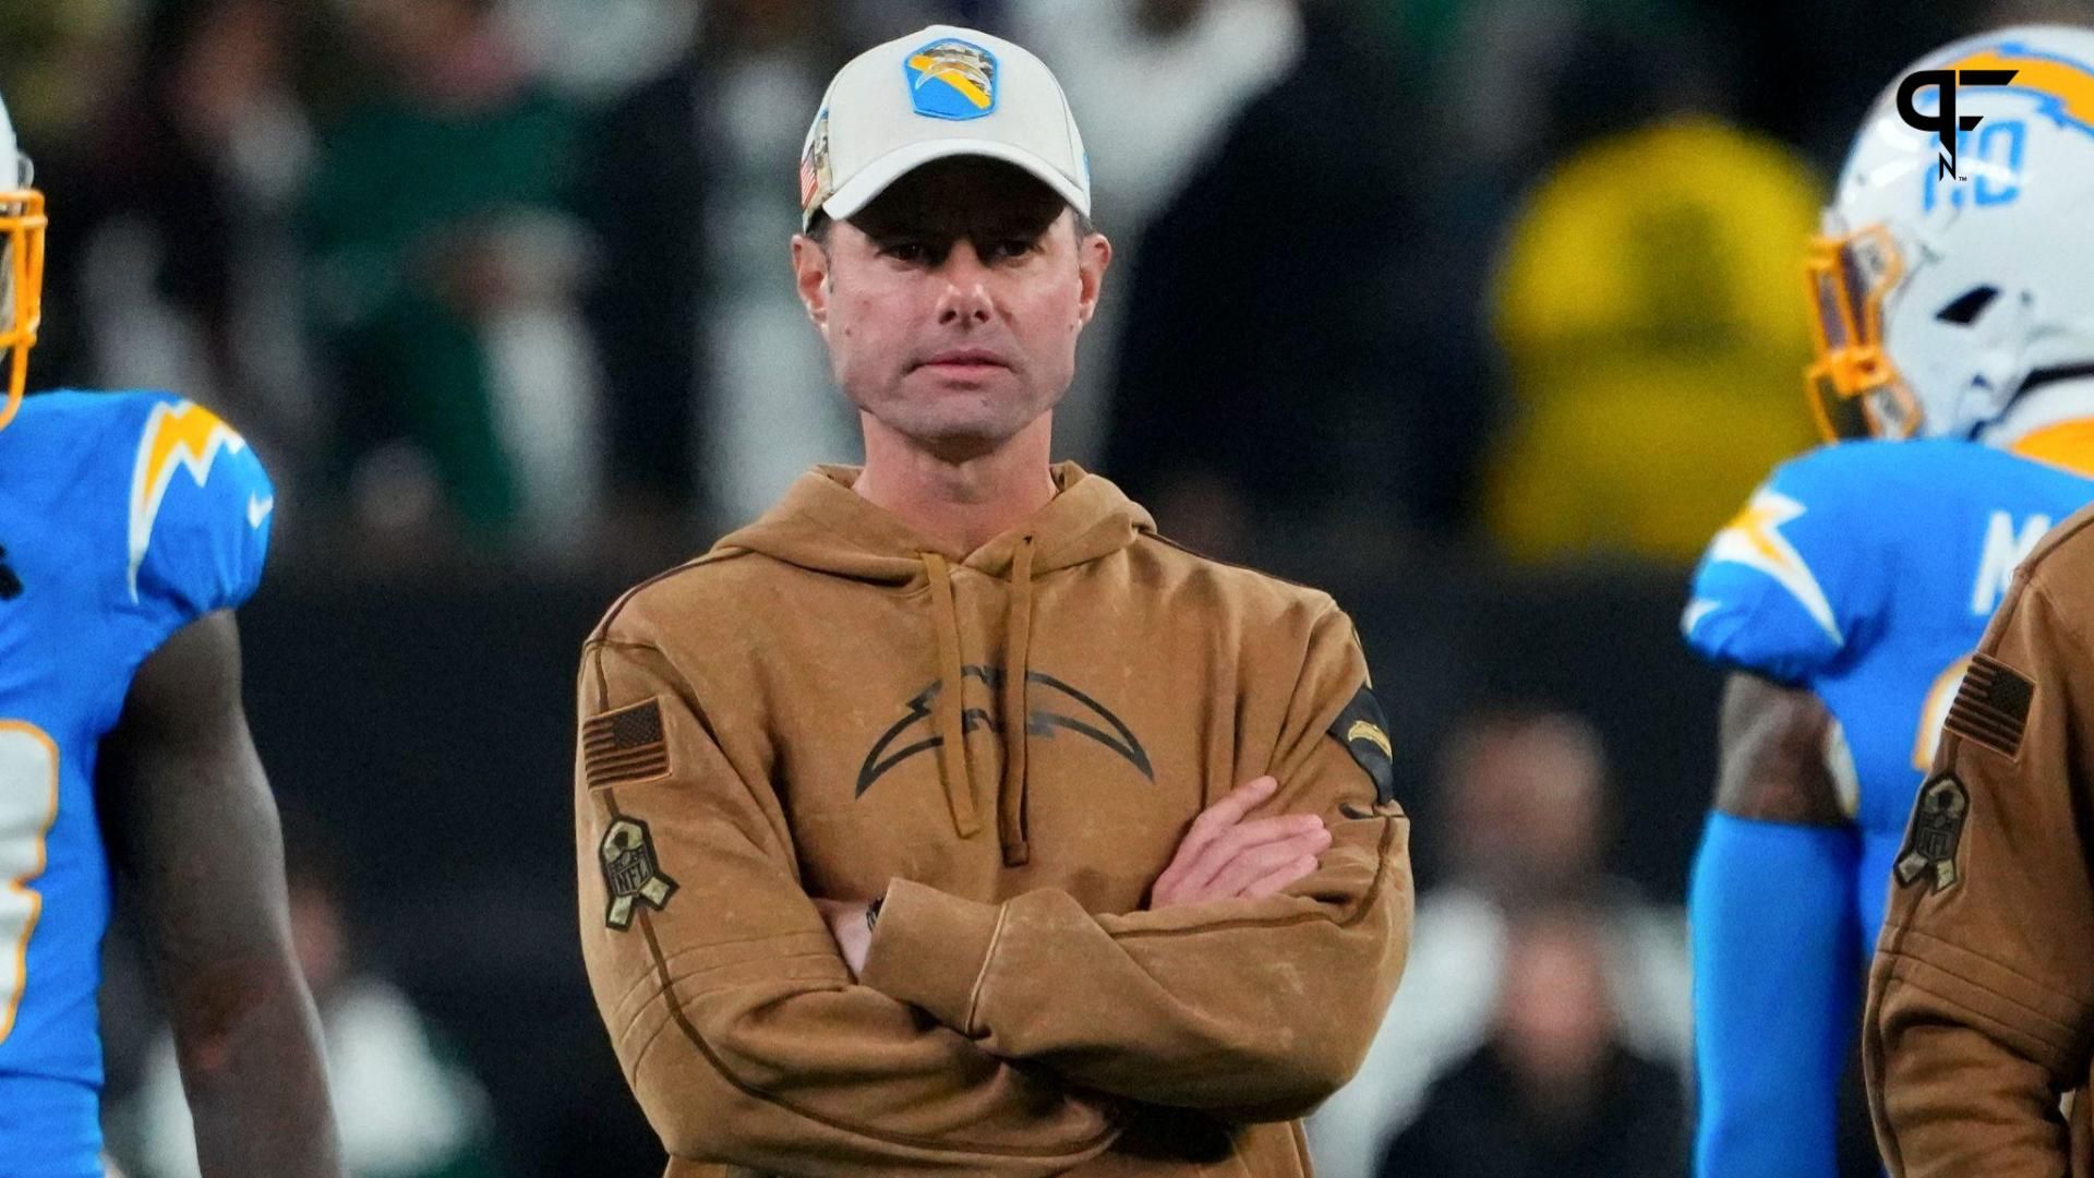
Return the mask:
<svg viewBox="0 0 2094 1178">
<path fill-rule="evenodd" d="M 1244 820 L 1273 797 L 1279 782 L 1252 778 L 1200 811 L 1164 874 L 1150 889 L 1150 908 L 1202 899 L 1254 899 L 1307 876 L 1330 849 L 1330 828 L 1313 813 Z"/>
</svg>

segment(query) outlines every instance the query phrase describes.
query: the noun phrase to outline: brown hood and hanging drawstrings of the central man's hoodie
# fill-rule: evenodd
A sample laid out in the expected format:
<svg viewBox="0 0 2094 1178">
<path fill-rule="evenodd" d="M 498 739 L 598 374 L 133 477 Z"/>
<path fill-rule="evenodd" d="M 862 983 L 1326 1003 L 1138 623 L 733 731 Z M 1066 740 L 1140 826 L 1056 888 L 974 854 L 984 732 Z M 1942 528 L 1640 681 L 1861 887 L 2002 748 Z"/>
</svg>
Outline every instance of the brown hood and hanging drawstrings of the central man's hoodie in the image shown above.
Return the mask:
<svg viewBox="0 0 2094 1178">
<path fill-rule="evenodd" d="M 965 736 L 974 715 L 965 713 L 955 568 L 972 568 L 1009 583 L 1003 610 L 1003 652 L 993 664 L 999 711 L 990 725 L 1003 746 L 1003 778 L 997 782 L 997 838 L 1003 861 L 1022 866 L 1032 851 L 1026 836 L 1030 780 L 1030 702 L 1026 698 L 1032 650 L 1032 579 L 1114 555 L 1141 532 L 1156 532 L 1156 520 L 1110 480 L 1087 474 L 1076 463 L 1053 467 L 1055 497 L 1024 524 L 974 551 L 957 551 L 919 537 L 884 507 L 875 507 L 852 484 L 861 467 L 819 465 L 794 480 L 785 499 L 754 524 L 729 532 L 712 551 L 758 551 L 785 564 L 846 576 L 867 585 L 930 587 L 932 633 L 936 635 L 938 690 L 932 717 L 938 732 L 938 773 L 944 782 L 953 832 L 980 832 L 976 782 Z M 1024 717 L 1011 723 L 1011 717 Z"/>
</svg>

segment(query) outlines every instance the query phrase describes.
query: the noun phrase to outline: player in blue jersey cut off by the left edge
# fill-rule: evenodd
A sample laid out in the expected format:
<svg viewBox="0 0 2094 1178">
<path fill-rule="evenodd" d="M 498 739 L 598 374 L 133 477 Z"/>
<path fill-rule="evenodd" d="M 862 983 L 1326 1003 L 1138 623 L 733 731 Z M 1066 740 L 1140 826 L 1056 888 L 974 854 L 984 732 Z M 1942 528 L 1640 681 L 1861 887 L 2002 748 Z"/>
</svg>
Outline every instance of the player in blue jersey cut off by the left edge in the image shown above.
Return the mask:
<svg viewBox="0 0 2094 1178">
<path fill-rule="evenodd" d="M 44 199 L 0 107 L 0 1176 L 101 1178 L 111 876 L 136 903 L 211 1178 L 339 1176 L 232 608 L 274 497 L 168 394 L 23 400 Z"/>
</svg>

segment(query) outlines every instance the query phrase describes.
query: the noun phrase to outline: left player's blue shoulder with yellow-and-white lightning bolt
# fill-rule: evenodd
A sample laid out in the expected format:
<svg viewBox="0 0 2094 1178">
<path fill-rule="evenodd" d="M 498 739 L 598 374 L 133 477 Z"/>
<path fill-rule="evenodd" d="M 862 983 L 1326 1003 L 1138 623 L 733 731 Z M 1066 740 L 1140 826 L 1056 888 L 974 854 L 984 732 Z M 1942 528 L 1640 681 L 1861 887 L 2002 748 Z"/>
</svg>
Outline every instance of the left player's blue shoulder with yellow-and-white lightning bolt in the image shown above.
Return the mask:
<svg viewBox="0 0 2094 1178">
<path fill-rule="evenodd" d="M 209 409 L 168 392 L 124 394 L 136 415 L 124 463 L 126 591 L 176 625 L 243 604 L 262 583 L 276 488 Z"/>
</svg>

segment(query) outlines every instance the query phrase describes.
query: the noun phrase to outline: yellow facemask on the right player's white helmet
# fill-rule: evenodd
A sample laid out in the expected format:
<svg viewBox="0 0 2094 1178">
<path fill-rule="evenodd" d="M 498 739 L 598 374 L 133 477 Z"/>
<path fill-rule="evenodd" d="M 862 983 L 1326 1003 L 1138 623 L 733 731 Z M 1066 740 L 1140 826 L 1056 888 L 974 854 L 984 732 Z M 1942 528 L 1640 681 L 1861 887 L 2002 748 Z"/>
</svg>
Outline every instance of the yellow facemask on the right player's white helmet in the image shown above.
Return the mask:
<svg viewBox="0 0 2094 1178">
<path fill-rule="evenodd" d="M 1818 430 L 1826 440 L 1918 434 L 1920 402 L 1883 350 L 1883 298 L 1906 275 L 1891 235 L 1870 226 L 1813 237 L 1803 268 L 1818 329 L 1803 386 Z"/>
</svg>

